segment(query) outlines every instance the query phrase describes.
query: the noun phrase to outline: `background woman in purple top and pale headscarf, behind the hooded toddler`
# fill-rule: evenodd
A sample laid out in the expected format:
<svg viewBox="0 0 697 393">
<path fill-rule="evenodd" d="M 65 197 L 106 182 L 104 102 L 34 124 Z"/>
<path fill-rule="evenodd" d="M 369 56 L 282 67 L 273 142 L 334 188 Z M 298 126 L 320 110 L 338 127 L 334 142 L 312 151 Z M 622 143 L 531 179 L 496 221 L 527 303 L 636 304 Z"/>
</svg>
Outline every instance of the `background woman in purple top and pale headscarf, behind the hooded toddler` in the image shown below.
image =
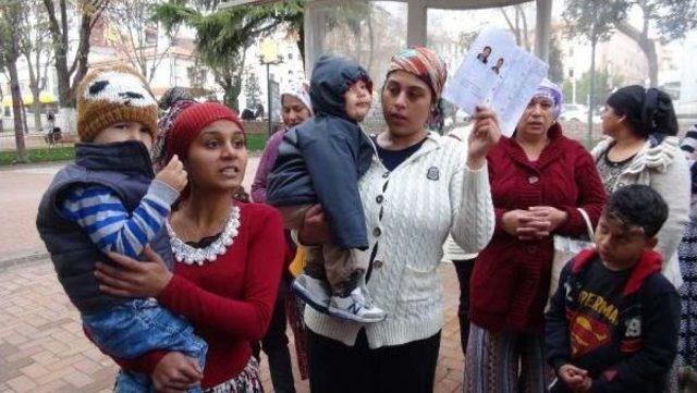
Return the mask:
<svg viewBox="0 0 697 393">
<path fill-rule="evenodd" d="M 252 183 L 252 199 L 259 204 L 266 202 L 268 177 L 279 155 L 279 145 L 283 140 L 283 135 L 313 115 L 307 84 L 294 83 L 284 86 L 281 91 L 281 119 L 283 120 L 284 128 L 271 135 L 267 142 L 259 160 L 257 173 L 254 176 L 254 183 Z M 289 243 L 293 244 L 292 242 Z M 307 378 L 305 333 L 302 314 L 298 309 L 301 307 L 295 295 L 289 291 L 292 280 L 293 278 L 290 277 L 289 271 L 284 270 L 279 285 L 278 297 L 276 298 L 276 306 L 273 307 L 271 324 L 261 340 L 261 346 L 259 347 L 258 343 L 254 346 L 257 358 L 260 348 L 268 356 L 273 391 L 279 393 L 295 392 L 291 355 L 288 349 L 289 341 L 285 335 L 286 316 L 290 317 L 291 328 L 293 328 L 293 334 L 295 335 L 301 377 L 304 377 L 303 379 Z"/>
</svg>

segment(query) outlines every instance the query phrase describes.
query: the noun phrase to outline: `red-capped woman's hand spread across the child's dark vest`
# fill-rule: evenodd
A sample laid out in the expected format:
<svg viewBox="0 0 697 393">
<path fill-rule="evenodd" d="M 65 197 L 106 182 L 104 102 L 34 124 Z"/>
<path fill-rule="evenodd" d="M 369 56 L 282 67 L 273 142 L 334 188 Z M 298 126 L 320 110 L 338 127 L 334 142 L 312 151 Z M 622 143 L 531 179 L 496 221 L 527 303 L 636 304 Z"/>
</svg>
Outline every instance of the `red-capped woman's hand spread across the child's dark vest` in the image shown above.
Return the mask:
<svg viewBox="0 0 697 393">
<path fill-rule="evenodd" d="M 122 297 L 156 297 L 172 279 L 172 272 L 164 261 L 150 246 L 143 249 L 146 261 L 138 261 L 117 253 L 109 253 L 109 258 L 120 269 L 103 262 L 97 262 L 95 277 L 99 281 L 99 290 Z"/>
</svg>

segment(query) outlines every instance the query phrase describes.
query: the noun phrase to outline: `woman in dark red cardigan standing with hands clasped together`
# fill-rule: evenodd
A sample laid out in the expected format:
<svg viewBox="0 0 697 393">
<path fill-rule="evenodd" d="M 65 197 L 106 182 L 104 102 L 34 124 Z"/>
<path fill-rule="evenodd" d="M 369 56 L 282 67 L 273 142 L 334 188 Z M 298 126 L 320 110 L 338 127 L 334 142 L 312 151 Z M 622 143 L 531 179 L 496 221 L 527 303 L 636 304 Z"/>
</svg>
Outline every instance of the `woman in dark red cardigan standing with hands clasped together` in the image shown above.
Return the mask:
<svg viewBox="0 0 697 393">
<path fill-rule="evenodd" d="M 552 235 L 582 235 L 577 208 L 597 223 L 606 193 L 590 153 L 562 135 L 562 95 L 547 79 L 512 137 L 489 152 L 496 230 L 470 281 L 465 392 L 545 392 L 543 308 Z"/>
</svg>

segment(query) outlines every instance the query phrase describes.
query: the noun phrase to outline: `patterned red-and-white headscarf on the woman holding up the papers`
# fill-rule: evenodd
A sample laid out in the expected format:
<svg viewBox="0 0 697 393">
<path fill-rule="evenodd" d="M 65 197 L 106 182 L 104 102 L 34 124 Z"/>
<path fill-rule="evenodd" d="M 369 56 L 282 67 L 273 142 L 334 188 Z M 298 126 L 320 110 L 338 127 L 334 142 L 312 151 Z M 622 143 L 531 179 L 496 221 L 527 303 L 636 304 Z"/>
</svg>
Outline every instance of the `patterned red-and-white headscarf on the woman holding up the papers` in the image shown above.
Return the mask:
<svg viewBox="0 0 697 393">
<path fill-rule="evenodd" d="M 448 65 L 433 50 L 425 47 L 403 49 L 392 57 L 388 75 L 394 71 L 406 71 L 424 81 L 433 94 L 436 109 L 428 119 L 428 126 L 440 131 L 443 126 L 441 94 L 448 78 Z"/>
</svg>

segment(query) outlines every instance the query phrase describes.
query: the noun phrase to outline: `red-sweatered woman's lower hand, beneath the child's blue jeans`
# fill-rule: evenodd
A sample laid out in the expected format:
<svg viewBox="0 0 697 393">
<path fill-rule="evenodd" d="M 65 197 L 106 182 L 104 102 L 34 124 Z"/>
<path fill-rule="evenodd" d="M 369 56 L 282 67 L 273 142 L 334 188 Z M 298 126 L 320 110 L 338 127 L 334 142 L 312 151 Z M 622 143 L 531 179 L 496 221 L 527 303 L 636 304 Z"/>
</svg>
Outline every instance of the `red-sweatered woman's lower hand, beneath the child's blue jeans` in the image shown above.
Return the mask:
<svg viewBox="0 0 697 393">
<path fill-rule="evenodd" d="M 204 374 L 198 361 L 180 352 L 170 352 L 155 366 L 152 384 L 157 392 L 186 392 L 200 383 Z"/>
</svg>

